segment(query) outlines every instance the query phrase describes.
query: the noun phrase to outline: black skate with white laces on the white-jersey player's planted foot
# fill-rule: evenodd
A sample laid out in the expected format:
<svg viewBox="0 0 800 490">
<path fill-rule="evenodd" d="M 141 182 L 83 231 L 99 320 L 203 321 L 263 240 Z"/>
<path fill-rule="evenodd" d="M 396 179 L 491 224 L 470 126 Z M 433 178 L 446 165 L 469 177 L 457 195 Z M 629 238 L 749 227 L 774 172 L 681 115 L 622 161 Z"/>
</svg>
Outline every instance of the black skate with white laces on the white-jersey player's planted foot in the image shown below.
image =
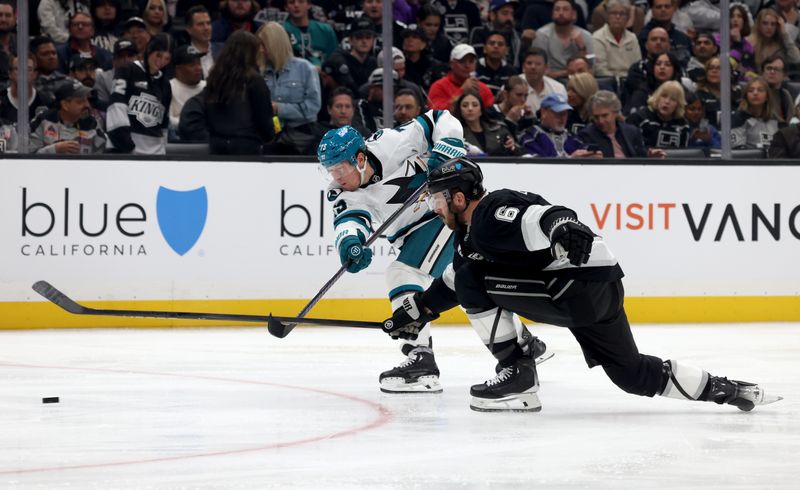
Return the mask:
<svg viewBox="0 0 800 490">
<path fill-rule="evenodd" d="M 408 359 L 399 366 L 380 375 L 381 391 L 384 393 L 441 393 L 439 368 L 433 351 L 428 347 L 404 346 Z"/>
</svg>

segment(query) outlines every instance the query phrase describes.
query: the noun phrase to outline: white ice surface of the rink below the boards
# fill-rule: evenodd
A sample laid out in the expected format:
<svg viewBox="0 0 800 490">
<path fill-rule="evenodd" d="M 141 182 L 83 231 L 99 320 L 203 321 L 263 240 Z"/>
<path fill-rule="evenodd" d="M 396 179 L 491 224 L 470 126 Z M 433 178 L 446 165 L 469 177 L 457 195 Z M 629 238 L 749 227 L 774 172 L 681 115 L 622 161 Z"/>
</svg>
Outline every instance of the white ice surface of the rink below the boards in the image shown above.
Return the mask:
<svg viewBox="0 0 800 490">
<path fill-rule="evenodd" d="M 800 325 L 634 328 L 785 398 L 749 413 L 628 395 L 535 333 L 543 410 L 493 414 L 469 409 L 494 361 L 467 327 L 435 328 L 444 393 L 404 396 L 374 331 L 0 332 L 0 488 L 800 488 Z"/>
</svg>

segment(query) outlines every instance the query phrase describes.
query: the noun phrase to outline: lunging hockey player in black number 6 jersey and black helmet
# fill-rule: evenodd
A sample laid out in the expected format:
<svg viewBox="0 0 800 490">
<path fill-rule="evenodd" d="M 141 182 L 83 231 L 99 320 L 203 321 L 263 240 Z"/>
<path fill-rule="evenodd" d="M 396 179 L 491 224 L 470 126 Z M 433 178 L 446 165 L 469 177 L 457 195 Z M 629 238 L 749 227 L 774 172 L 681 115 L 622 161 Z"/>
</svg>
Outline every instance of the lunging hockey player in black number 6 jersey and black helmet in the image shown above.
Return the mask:
<svg viewBox="0 0 800 490">
<path fill-rule="evenodd" d="M 541 410 L 536 365 L 519 348 L 513 313 L 569 328 L 589 367 L 602 366 L 628 393 L 745 411 L 781 399 L 756 384 L 640 354 L 623 307 L 622 269 L 603 239 L 570 209 L 528 192 L 486 194 L 482 182 L 468 159 L 431 171 L 431 208 L 456 232 L 453 271 L 384 322 L 390 334 L 413 335 L 421 321 L 461 304 L 500 368 L 472 386 L 473 410 Z"/>
</svg>

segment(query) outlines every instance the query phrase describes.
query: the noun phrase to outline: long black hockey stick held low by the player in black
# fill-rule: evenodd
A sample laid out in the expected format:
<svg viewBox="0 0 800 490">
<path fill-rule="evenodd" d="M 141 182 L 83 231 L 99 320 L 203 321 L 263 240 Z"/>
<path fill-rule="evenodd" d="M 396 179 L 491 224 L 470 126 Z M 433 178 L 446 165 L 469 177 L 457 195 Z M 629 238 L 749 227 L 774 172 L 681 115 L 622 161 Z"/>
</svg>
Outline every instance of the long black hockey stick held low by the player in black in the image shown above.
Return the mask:
<svg viewBox="0 0 800 490">
<path fill-rule="evenodd" d="M 383 328 L 381 322 L 363 322 L 356 320 L 329 320 L 323 318 L 297 318 L 272 315 L 244 315 L 235 313 L 193 313 L 185 311 L 147 311 L 147 310 L 104 310 L 83 306 L 62 293 L 47 281 L 37 281 L 33 290 L 47 300 L 73 315 L 125 316 L 139 318 L 171 318 L 180 320 L 224 320 L 231 322 L 266 323 L 292 322 L 300 325 L 325 325 L 328 327 Z"/>
</svg>

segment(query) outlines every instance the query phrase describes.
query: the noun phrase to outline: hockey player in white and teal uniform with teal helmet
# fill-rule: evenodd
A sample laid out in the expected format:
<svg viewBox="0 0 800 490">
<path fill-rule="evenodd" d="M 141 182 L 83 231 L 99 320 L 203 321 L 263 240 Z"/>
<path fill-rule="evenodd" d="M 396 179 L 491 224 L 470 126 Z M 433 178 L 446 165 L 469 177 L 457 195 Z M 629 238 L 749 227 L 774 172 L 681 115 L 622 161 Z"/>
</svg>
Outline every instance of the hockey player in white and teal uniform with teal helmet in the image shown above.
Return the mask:
<svg viewBox="0 0 800 490">
<path fill-rule="evenodd" d="M 364 243 L 388 216 L 423 185 L 429 168 L 466 154 L 461 123 L 447 111 L 431 110 L 394 129 L 382 129 L 366 141 L 351 126 L 328 131 L 317 156 L 331 179 L 328 200 L 333 203 L 335 245 L 348 272 L 358 272 L 372 261 Z M 410 206 L 386 231 L 399 250 L 386 271 L 392 310 L 413 305 L 434 278 L 453 259 L 452 232 L 423 203 Z M 432 350 L 428 321 L 404 339 L 408 358 L 380 375 L 387 393 L 442 390 Z M 413 337 L 413 338 L 412 338 Z M 544 344 L 525 332 L 526 351 L 544 352 Z"/>
</svg>

